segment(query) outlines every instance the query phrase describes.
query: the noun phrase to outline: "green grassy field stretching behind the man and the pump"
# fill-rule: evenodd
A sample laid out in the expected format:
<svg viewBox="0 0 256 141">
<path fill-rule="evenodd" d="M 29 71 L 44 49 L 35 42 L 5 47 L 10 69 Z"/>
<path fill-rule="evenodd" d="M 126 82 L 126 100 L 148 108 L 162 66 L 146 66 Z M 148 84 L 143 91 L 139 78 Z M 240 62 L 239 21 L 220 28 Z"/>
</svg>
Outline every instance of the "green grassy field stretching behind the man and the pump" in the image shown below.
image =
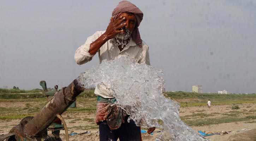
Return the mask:
<svg viewBox="0 0 256 141">
<path fill-rule="evenodd" d="M 2 105 L 22 103 L 20 107 L 0 107 L 0 119 L 3 121 L 10 121 L 12 119 L 22 119 L 26 116 L 35 116 L 44 105 L 46 105 L 46 97 L 41 91 L 15 91 L 3 90 L 0 91 L 0 103 Z M 176 102 L 180 103 L 181 107 L 185 107 L 188 102 L 188 107 L 194 106 L 206 106 L 207 100 L 212 101 L 212 105 L 227 105 L 226 109 L 230 109 L 234 104 L 244 104 L 248 110 L 233 110 L 226 113 L 211 113 L 205 114 L 205 110 L 192 111 L 192 114 L 181 116 L 181 119 L 188 125 L 210 125 L 230 122 L 248 122 L 255 123 L 256 109 L 253 109 L 254 103 L 256 103 L 256 94 L 215 94 L 215 93 L 191 93 L 191 92 L 165 92 L 164 95 Z M 12 105 L 12 104 L 11 104 Z M 89 127 L 95 129 L 94 114 L 96 112 L 96 96 L 94 91 L 84 91 L 77 97 L 77 107 L 69 108 L 64 112 L 64 116 L 67 119 L 73 119 L 70 123 L 76 123 L 79 121 L 85 121 L 89 123 Z M 90 118 L 79 118 L 78 115 L 85 114 L 91 115 Z M 222 118 L 216 118 L 214 115 L 219 115 Z M 206 120 L 207 118 L 207 120 Z M 90 127 L 91 126 L 91 127 Z M 79 128 L 79 127 L 73 127 Z"/>
</svg>

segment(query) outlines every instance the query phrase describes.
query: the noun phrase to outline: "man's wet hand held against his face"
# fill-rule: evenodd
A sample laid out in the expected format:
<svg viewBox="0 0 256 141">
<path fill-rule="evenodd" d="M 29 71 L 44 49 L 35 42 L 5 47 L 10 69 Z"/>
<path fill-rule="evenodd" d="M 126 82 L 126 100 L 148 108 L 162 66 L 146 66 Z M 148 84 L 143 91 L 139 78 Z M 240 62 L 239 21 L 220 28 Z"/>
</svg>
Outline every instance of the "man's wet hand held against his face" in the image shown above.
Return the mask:
<svg viewBox="0 0 256 141">
<path fill-rule="evenodd" d="M 123 32 L 122 27 L 126 26 L 126 23 L 123 21 L 125 20 L 125 17 L 120 16 L 116 20 L 114 20 L 111 17 L 110 23 L 108 24 L 108 27 L 106 29 L 106 32 L 104 33 L 108 39 L 114 38 L 118 33 Z M 120 30 L 121 29 L 121 30 Z"/>
</svg>

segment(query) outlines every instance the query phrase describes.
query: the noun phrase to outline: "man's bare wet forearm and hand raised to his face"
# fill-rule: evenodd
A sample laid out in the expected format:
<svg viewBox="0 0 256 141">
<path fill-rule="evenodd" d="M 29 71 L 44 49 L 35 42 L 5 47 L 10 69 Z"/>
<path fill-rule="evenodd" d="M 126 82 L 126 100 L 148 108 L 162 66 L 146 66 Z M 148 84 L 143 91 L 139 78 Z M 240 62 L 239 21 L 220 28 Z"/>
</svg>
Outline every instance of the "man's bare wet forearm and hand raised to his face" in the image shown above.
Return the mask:
<svg viewBox="0 0 256 141">
<path fill-rule="evenodd" d="M 97 51 L 100 49 L 100 47 L 105 44 L 109 39 L 114 38 L 118 33 L 123 32 L 123 29 L 121 29 L 123 26 L 126 25 L 126 23 L 122 22 L 125 20 L 124 17 L 120 16 L 118 19 L 114 20 L 111 17 L 111 21 L 108 24 L 107 30 L 105 33 L 103 33 L 99 38 L 97 38 L 94 42 L 90 44 L 90 50 L 89 53 L 91 55 L 95 55 Z M 120 30 L 121 29 L 121 30 Z"/>
</svg>

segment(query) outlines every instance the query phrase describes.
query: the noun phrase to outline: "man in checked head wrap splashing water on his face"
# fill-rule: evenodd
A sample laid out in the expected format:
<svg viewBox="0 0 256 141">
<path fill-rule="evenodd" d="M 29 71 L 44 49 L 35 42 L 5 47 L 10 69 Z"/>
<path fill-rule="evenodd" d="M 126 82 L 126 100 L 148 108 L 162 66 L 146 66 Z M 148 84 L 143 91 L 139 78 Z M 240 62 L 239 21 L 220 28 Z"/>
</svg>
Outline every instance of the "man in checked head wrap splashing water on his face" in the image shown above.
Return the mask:
<svg viewBox="0 0 256 141">
<path fill-rule="evenodd" d="M 119 59 L 126 53 L 138 63 L 150 65 L 148 45 L 142 41 L 138 26 L 143 19 L 143 13 L 129 1 L 121 1 L 114 9 L 106 31 L 97 31 L 87 38 L 85 44 L 75 53 L 77 64 L 91 61 L 98 53 L 102 60 Z M 97 98 L 95 122 L 99 125 L 100 141 L 140 141 L 141 129 L 132 120 L 127 122 L 127 115 L 115 102 L 109 84 L 98 84 L 94 93 Z M 150 128 L 148 133 L 154 131 Z"/>
</svg>

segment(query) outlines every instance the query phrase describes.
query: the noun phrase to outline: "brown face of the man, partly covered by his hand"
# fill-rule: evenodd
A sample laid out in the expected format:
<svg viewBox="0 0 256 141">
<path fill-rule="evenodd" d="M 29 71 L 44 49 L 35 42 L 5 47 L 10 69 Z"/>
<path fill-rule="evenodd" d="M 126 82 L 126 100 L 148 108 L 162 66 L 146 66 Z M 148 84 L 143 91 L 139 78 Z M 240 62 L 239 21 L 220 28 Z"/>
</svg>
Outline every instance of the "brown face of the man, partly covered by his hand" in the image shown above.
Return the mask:
<svg viewBox="0 0 256 141">
<path fill-rule="evenodd" d="M 125 17 L 125 20 L 124 22 L 122 23 L 126 23 L 126 26 L 125 26 L 125 29 L 128 29 L 130 32 L 132 32 L 134 29 L 135 29 L 135 26 L 136 26 L 136 16 L 135 14 L 132 14 L 132 13 L 121 13 L 119 15 L 119 17 Z M 119 19 L 118 17 L 118 19 Z M 124 30 L 124 34 L 126 33 L 126 31 Z"/>
</svg>

